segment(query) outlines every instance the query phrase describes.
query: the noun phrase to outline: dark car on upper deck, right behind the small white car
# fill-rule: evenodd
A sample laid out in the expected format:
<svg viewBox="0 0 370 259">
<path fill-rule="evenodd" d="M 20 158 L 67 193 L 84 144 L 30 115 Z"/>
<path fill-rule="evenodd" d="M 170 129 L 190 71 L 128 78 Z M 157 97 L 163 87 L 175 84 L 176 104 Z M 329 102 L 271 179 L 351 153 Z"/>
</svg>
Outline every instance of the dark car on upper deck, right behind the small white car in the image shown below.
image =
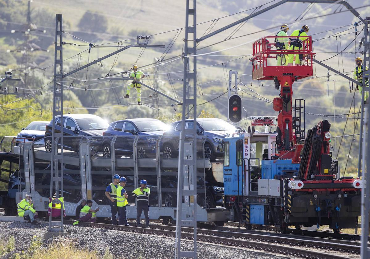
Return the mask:
<svg viewBox="0 0 370 259">
<path fill-rule="evenodd" d="M 51 134 L 53 132 L 53 121 L 46 125 L 45 131 L 45 149 L 51 152 Z M 63 125 L 63 148 L 71 151 L 78 151 L 80 138 L 71 138 L 68 136 L 102 136 L 103 132 L 108 128 L 109 124 L 97 115 L 92 114 L 65 114 L 63 122 L 60 116 L 55 116 L 55 132 L 60 133 L 61 125 Z M 95 153 L 100 149 L 101 139 L 92 138 L 90 148 Z M 60 142 L 58 143 L 60 144 Z"/>
</svg>

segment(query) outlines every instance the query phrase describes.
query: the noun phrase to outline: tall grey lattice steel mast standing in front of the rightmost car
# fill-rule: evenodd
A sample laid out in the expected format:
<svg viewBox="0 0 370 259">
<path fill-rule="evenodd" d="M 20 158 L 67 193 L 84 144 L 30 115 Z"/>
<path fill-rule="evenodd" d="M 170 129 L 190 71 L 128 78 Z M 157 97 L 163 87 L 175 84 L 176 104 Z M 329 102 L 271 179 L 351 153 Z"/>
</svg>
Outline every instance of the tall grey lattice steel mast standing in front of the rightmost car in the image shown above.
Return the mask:
<svg viewBox="0 0 370 259">
<path fill-rule="evenodd" d="M 193 8 L 189 8 L 189 2 Z M 189 26 L 193 18 L 193 26 Z M 189 39 L 189 34 L 192 39 Z M 188 46 L 192 42 L 193 47 Z M 190 55 L 190 56 L 189 56 Z M 185 47 L 182 54 L 184 61 L 184 84 L 182 98 L 182 127 L 180 133 L 179 167 L 177 176 L 177 210 L 175 258 L 196 258 L 196 0 L 186 0 Z M 192 67 L 189 59 L 192 58 Z M 193 72 L 190 72 L 193 70 Z M 193 81 L 193 85 L 190 82 Z M 193 97 L 191 98 L 191 94 Z M 194 128 L 185 128 L 186 113 L 194 118 Z M 184 203 L 183 201 L 184 197 Z M 185 219 L 182 217 L 185 216 Z M 181 226 L 194 229 L 194 250 L 181 251 Z"/>
</svg>

